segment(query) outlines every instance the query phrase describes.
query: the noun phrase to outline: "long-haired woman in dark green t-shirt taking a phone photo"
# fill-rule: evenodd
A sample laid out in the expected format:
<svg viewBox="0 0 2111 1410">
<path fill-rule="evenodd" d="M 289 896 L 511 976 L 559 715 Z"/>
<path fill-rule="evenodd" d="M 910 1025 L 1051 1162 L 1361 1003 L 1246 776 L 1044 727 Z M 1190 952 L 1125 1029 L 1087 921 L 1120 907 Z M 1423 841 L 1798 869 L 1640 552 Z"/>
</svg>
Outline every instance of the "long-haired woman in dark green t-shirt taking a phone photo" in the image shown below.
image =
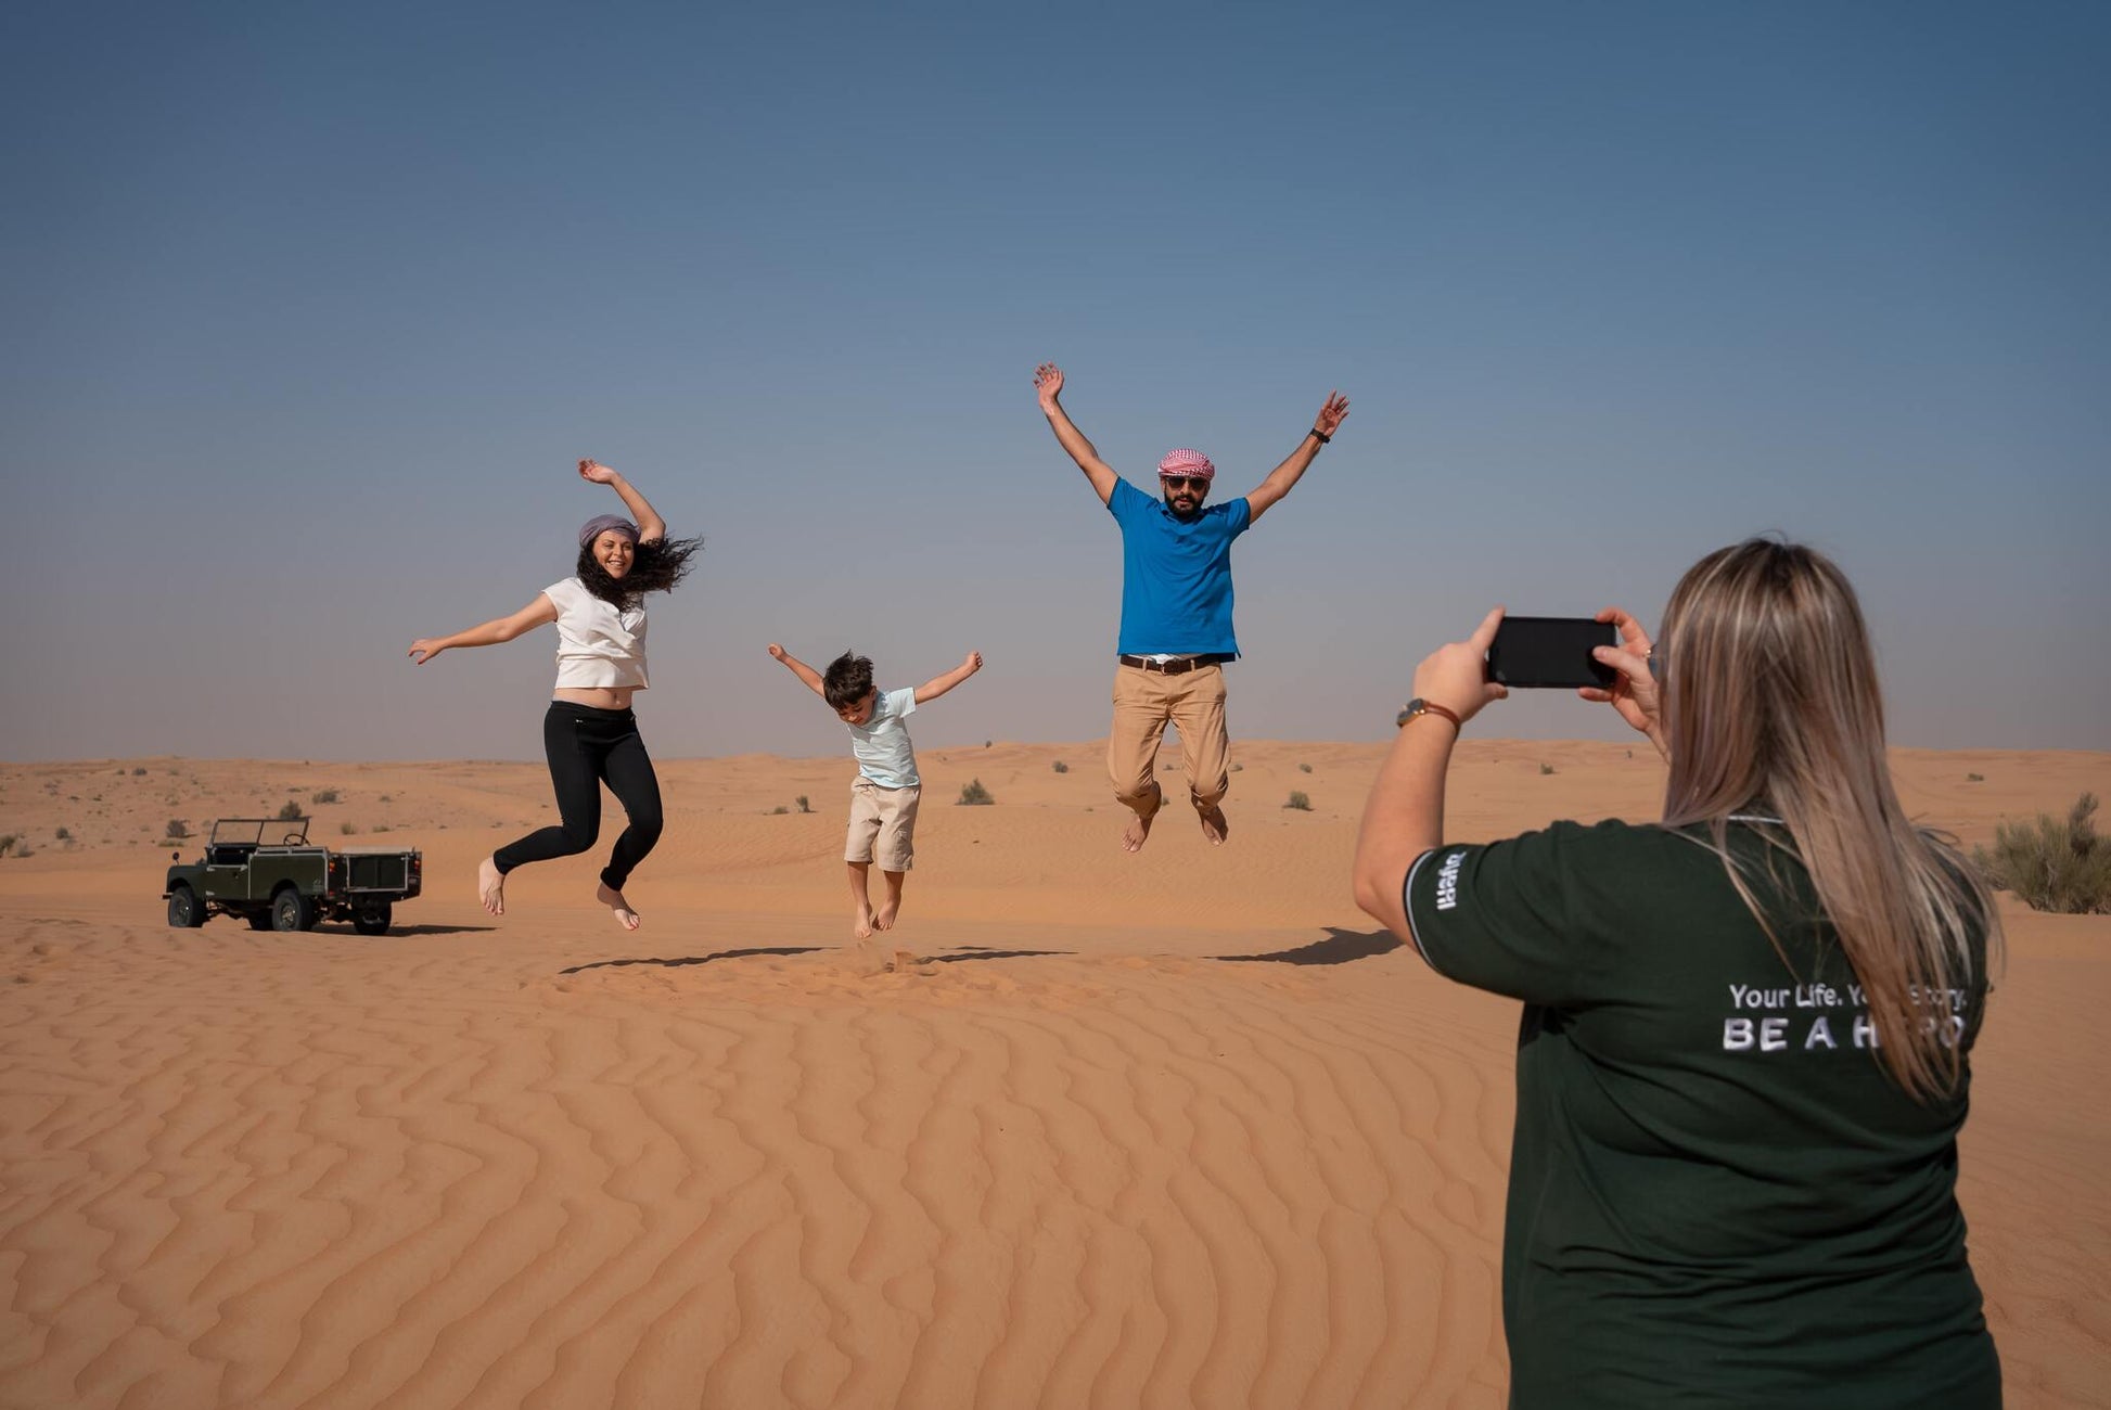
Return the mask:
<svg viewBox="0 0 2111 1410">
<path fill-rule="evenodd" d="M 1446 842 L 1499 621 L 1416 667 L 1355 895 L 1524 1001 L 1511 1406 L 1999 1406 L 1955 1195 L 1999 920 L 1898 802 L 1853 589 L 1750 540 L 1655 644 L 1606 608 L 1617 678 L 1583 694 L 1670 762 L 1663 819 Z"/>
</svg>

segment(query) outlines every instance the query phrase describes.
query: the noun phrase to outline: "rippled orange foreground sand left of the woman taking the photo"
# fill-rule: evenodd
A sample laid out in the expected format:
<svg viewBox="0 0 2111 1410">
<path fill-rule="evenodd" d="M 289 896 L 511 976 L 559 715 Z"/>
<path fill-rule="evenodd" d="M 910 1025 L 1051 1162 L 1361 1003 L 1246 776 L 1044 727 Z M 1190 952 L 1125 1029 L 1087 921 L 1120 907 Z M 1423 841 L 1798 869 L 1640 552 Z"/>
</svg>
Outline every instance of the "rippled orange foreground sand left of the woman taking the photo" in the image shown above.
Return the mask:
<svg viewBox="0 0 2111 1410">
<path fill-rule="evenodd" d="M 19 935 L 4 1406 L 1501 1404 L 1412 958 Z"/>
</svg>

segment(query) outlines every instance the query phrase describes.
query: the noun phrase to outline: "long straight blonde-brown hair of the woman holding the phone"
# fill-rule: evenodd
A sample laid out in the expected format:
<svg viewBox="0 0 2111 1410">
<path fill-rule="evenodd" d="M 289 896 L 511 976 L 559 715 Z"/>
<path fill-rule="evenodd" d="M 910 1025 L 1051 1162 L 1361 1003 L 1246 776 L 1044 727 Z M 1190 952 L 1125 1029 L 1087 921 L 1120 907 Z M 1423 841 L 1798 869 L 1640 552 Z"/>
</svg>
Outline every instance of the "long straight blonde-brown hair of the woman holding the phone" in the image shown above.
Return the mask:
<svg viewBox="0 0 2111 1410">
<path fill-rule="evenodd" d="M 1733 815 L 1780 819 L 1788 842 L 1761 834 L 1809 872 L 1877 1026 L 1877 1058 L 1915 1100 L 1955 1091 L 1967 1015 L 1953 994 L 1972 1003 L 1986 963 L 1974 939 L 1984 931 L 1980 954 L 1995 956 L 2001 922 L 1963 859 L 1898 802 L 1877 659 L 1845 574 L 1801 545 L 1716 549 L 1678 580 L 1659 654 L 1663 825 L 1706 825 L 1780 950 L 1729 851 Z"/>
</svg>

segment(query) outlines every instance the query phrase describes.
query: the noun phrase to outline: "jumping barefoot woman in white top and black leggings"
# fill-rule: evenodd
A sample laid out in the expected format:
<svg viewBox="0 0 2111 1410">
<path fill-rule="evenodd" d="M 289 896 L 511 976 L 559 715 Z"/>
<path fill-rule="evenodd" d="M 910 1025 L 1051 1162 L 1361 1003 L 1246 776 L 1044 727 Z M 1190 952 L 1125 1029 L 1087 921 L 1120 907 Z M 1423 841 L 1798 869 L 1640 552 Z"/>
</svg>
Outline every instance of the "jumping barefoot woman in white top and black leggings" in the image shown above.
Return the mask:
<svg viewBox="0 0 2111 1410">
<path fill-rule="evenodd" d="M 450 646 L 498 646 L 545 623 L 557 623 L 557 688 L 543 716 L 543 749 L 557 792 L 557 827 L 530 832 L 500 846 L 477 868 L 483 910 L 507 914 L 507 872 L 526 861 L 572 857 L 602 832 L 602 783 L 623 804 L 629 825 L 602 868 L 593 897 L 635 931 L 640 916 L 623 899 L 623 882 L 661 834 L 659 777 L 638 735 L 631 697 L 646 688 L 646 593 L 671 591 L 688 574 L 695 538 L 667 538 L 667 523 L 646 496 L 606 464 L 578 462 L 581 479 L 608 485 L 635 515 L 597 515 L 578 530 L 578 572 L 534 595 L 513 616 L 418 637 L 410 659 L 424 665 Z"/>
</svg>

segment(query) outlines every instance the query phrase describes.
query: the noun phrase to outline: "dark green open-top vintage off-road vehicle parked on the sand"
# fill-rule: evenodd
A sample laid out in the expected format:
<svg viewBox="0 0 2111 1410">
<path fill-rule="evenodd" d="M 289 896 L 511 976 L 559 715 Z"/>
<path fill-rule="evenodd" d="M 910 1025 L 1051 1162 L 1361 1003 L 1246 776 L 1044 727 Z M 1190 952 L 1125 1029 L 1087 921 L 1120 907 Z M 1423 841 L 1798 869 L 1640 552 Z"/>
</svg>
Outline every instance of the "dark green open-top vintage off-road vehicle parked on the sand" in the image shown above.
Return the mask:
<svg viewBox="0 0 2111 1410">
<path fill-rule="evenodd" d="M 169 925 L 192 929 L 213 912 L 243 916 L 251 931 L 312 931 L 350 920 L 386 935 L 395 903 L 418 895 L 424 859 L 414 849 L 334 853 L 308 842 L 306 817 L 222 817 L 201 861 L 169 868 Z"/>
</svg>

